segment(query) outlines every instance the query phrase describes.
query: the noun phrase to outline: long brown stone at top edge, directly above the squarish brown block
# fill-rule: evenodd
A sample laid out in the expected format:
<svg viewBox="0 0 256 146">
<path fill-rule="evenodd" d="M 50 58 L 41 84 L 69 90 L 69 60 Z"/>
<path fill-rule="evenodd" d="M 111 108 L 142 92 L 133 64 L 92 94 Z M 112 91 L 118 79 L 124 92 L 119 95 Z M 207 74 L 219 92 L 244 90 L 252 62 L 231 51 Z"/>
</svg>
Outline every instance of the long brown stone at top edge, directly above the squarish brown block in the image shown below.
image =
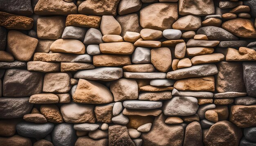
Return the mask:
<svg viewBox="0 0 256 146">
<path fill-rule="evenodd" d="M 34 12 L 38 15 L 69 15 L 76 14 L 77 7 L 64 0 L 38 0 Z"/>
</svg>

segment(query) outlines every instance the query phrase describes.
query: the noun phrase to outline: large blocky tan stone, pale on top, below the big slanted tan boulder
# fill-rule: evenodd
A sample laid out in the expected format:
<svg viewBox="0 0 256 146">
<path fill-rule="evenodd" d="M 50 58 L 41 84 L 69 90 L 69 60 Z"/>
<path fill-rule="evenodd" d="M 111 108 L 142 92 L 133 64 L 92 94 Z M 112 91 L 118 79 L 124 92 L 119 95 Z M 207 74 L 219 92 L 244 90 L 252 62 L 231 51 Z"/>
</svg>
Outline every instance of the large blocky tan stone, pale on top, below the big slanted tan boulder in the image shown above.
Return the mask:
<svg viewBox="0 0 256 146">
<path fill-rule="evenodd" d="M 67 123 L 94 123 L 96 117 L 93 113 L 94 106 L 90 104 L 78 104 L 71 102 L 61 106 L 61 115 Z"/>
</svg>

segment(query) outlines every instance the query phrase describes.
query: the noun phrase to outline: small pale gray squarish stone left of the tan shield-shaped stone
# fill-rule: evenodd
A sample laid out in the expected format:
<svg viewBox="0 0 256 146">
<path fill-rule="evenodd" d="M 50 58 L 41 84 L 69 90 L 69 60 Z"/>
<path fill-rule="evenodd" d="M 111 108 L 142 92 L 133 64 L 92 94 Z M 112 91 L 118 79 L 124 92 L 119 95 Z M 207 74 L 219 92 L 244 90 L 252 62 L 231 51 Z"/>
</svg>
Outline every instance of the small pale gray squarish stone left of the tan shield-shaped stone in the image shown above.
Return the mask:
<svg viewBox="0 0 256 146">
<path fill-rule="evenodd" d="M 150 63 L 150 49 L 144 47 L 137 47 L 132 53 L 132 63 L 141 64 L 141 63 Z"/>
</svg>

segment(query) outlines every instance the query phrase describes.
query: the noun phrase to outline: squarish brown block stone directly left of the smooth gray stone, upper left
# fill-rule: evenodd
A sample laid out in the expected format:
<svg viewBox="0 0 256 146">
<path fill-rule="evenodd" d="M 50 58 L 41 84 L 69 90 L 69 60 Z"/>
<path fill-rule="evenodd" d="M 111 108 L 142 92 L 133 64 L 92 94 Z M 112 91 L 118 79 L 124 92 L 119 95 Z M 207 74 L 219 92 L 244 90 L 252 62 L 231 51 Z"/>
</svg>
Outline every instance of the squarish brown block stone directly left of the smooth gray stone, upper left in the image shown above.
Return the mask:
<svg viewBox="0 0 256 146">
<path fill-rule="evenodd" d="M 37 36 L 40 39 L 60 39 L 65 29 L 63 16 L 41 17 L 37 20 Z"/>
</svg>

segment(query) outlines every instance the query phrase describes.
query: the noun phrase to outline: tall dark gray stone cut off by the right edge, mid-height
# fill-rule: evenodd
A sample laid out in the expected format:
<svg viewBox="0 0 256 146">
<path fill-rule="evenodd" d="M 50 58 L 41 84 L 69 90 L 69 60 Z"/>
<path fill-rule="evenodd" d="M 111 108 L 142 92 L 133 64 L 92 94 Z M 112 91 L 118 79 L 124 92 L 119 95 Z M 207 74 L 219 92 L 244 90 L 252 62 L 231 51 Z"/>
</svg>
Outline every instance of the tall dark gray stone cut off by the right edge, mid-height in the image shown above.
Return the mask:
<svg viewBox="0 0 256 146">
<path fill-rule="evenodd" d="M 247 95 L 256 97 L 256 63 L 243 62 L 243 70 Z"/>
</svg>

